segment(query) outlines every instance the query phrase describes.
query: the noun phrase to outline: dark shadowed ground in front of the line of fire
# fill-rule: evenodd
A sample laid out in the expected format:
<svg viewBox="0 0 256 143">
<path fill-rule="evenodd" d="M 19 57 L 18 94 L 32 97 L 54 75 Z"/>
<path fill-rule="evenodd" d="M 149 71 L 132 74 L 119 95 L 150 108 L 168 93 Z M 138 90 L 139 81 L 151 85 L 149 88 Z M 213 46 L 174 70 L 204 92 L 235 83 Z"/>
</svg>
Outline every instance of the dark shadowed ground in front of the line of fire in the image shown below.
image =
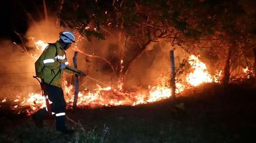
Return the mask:
<svg viewBox="0 0 256 143">
<path fill-rule="evenodd" d="M 30 117 L 0 107 L 0 142 L 256 142 L 255 99 L 250 85 L 206 84 L 176 100 L 68 110 L 79 122 L 67 121 L 74 135 L 56 132 L 53 120 L 37 129 Z"/>
</svg>

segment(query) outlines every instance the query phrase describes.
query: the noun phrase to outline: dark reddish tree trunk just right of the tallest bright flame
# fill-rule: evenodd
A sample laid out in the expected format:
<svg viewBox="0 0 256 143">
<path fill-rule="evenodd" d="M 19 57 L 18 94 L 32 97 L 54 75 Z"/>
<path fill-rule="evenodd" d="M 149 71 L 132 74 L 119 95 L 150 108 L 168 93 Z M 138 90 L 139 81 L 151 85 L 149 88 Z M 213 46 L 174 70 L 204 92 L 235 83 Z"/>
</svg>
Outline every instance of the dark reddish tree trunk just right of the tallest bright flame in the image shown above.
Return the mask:
<svg viewBox="0 0 256 143">
<path fill-rule="evenodd" d="M 225 67 L 224 67 L 224 77 L 222 79 L 223 84 L 227 84 L 229 82 L 231 48 L 232 48 L 232 46 L 229 46 L 229 48 L 228 48 L 227 59 L 226 59 L 226 62 L 225 62 Z"/>
</svg>

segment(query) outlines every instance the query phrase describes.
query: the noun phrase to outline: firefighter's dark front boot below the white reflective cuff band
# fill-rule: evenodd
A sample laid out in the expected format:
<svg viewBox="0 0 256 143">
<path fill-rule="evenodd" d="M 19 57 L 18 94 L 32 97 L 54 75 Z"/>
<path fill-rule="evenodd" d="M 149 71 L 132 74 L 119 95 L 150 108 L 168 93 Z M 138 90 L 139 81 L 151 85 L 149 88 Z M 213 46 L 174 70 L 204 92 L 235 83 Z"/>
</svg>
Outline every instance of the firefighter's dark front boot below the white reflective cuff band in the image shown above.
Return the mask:
<svg viewBox="0 0 256 143">
<path fill-rule="evenodd" d="M 65 134 L 72 134 L 74 130 L 69 130 L 65 126 L 66 116 L 56 117 L 56 130 Z"/>
</svg>

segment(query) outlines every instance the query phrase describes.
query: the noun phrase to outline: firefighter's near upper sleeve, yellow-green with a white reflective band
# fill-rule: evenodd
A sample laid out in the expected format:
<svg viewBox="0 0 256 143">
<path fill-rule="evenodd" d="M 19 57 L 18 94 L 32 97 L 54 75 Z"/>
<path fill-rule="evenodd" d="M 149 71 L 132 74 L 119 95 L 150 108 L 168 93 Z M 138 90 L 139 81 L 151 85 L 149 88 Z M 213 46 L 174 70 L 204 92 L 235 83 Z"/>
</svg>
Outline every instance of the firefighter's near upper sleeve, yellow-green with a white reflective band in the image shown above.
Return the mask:
<svg viewBox="0 0 256 143">
<path fill-rule="evenodd" d="M 44 65 L 50 69 L 57 69 L 60 67 L 60 63 L 55 59 L 56 48 L 54 46 L 49 46 L 46 49 L 44 57 Z"/>
</svg>

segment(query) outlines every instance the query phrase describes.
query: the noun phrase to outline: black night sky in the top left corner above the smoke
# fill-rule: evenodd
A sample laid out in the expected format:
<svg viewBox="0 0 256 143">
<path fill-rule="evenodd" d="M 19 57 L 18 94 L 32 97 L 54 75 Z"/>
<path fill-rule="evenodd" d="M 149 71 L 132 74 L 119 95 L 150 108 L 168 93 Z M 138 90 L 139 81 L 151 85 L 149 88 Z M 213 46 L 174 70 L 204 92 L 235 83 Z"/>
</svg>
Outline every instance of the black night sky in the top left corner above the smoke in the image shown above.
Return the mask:
<svg viewBox="0 0 256 143">
<path fill-rule="evenodd" d="M 57 1 L 46 1 L 48 13 L 57 10 Z M 42 0 L 11 0 L 1 1 L 1 33 L 0 38 L 19 41 L 14 30 L 19 34 L 25 34 L 31 21 L 26 12 L 28 12 L 35 21 L 44 18 L 44 8 Z"/>
</svg>

